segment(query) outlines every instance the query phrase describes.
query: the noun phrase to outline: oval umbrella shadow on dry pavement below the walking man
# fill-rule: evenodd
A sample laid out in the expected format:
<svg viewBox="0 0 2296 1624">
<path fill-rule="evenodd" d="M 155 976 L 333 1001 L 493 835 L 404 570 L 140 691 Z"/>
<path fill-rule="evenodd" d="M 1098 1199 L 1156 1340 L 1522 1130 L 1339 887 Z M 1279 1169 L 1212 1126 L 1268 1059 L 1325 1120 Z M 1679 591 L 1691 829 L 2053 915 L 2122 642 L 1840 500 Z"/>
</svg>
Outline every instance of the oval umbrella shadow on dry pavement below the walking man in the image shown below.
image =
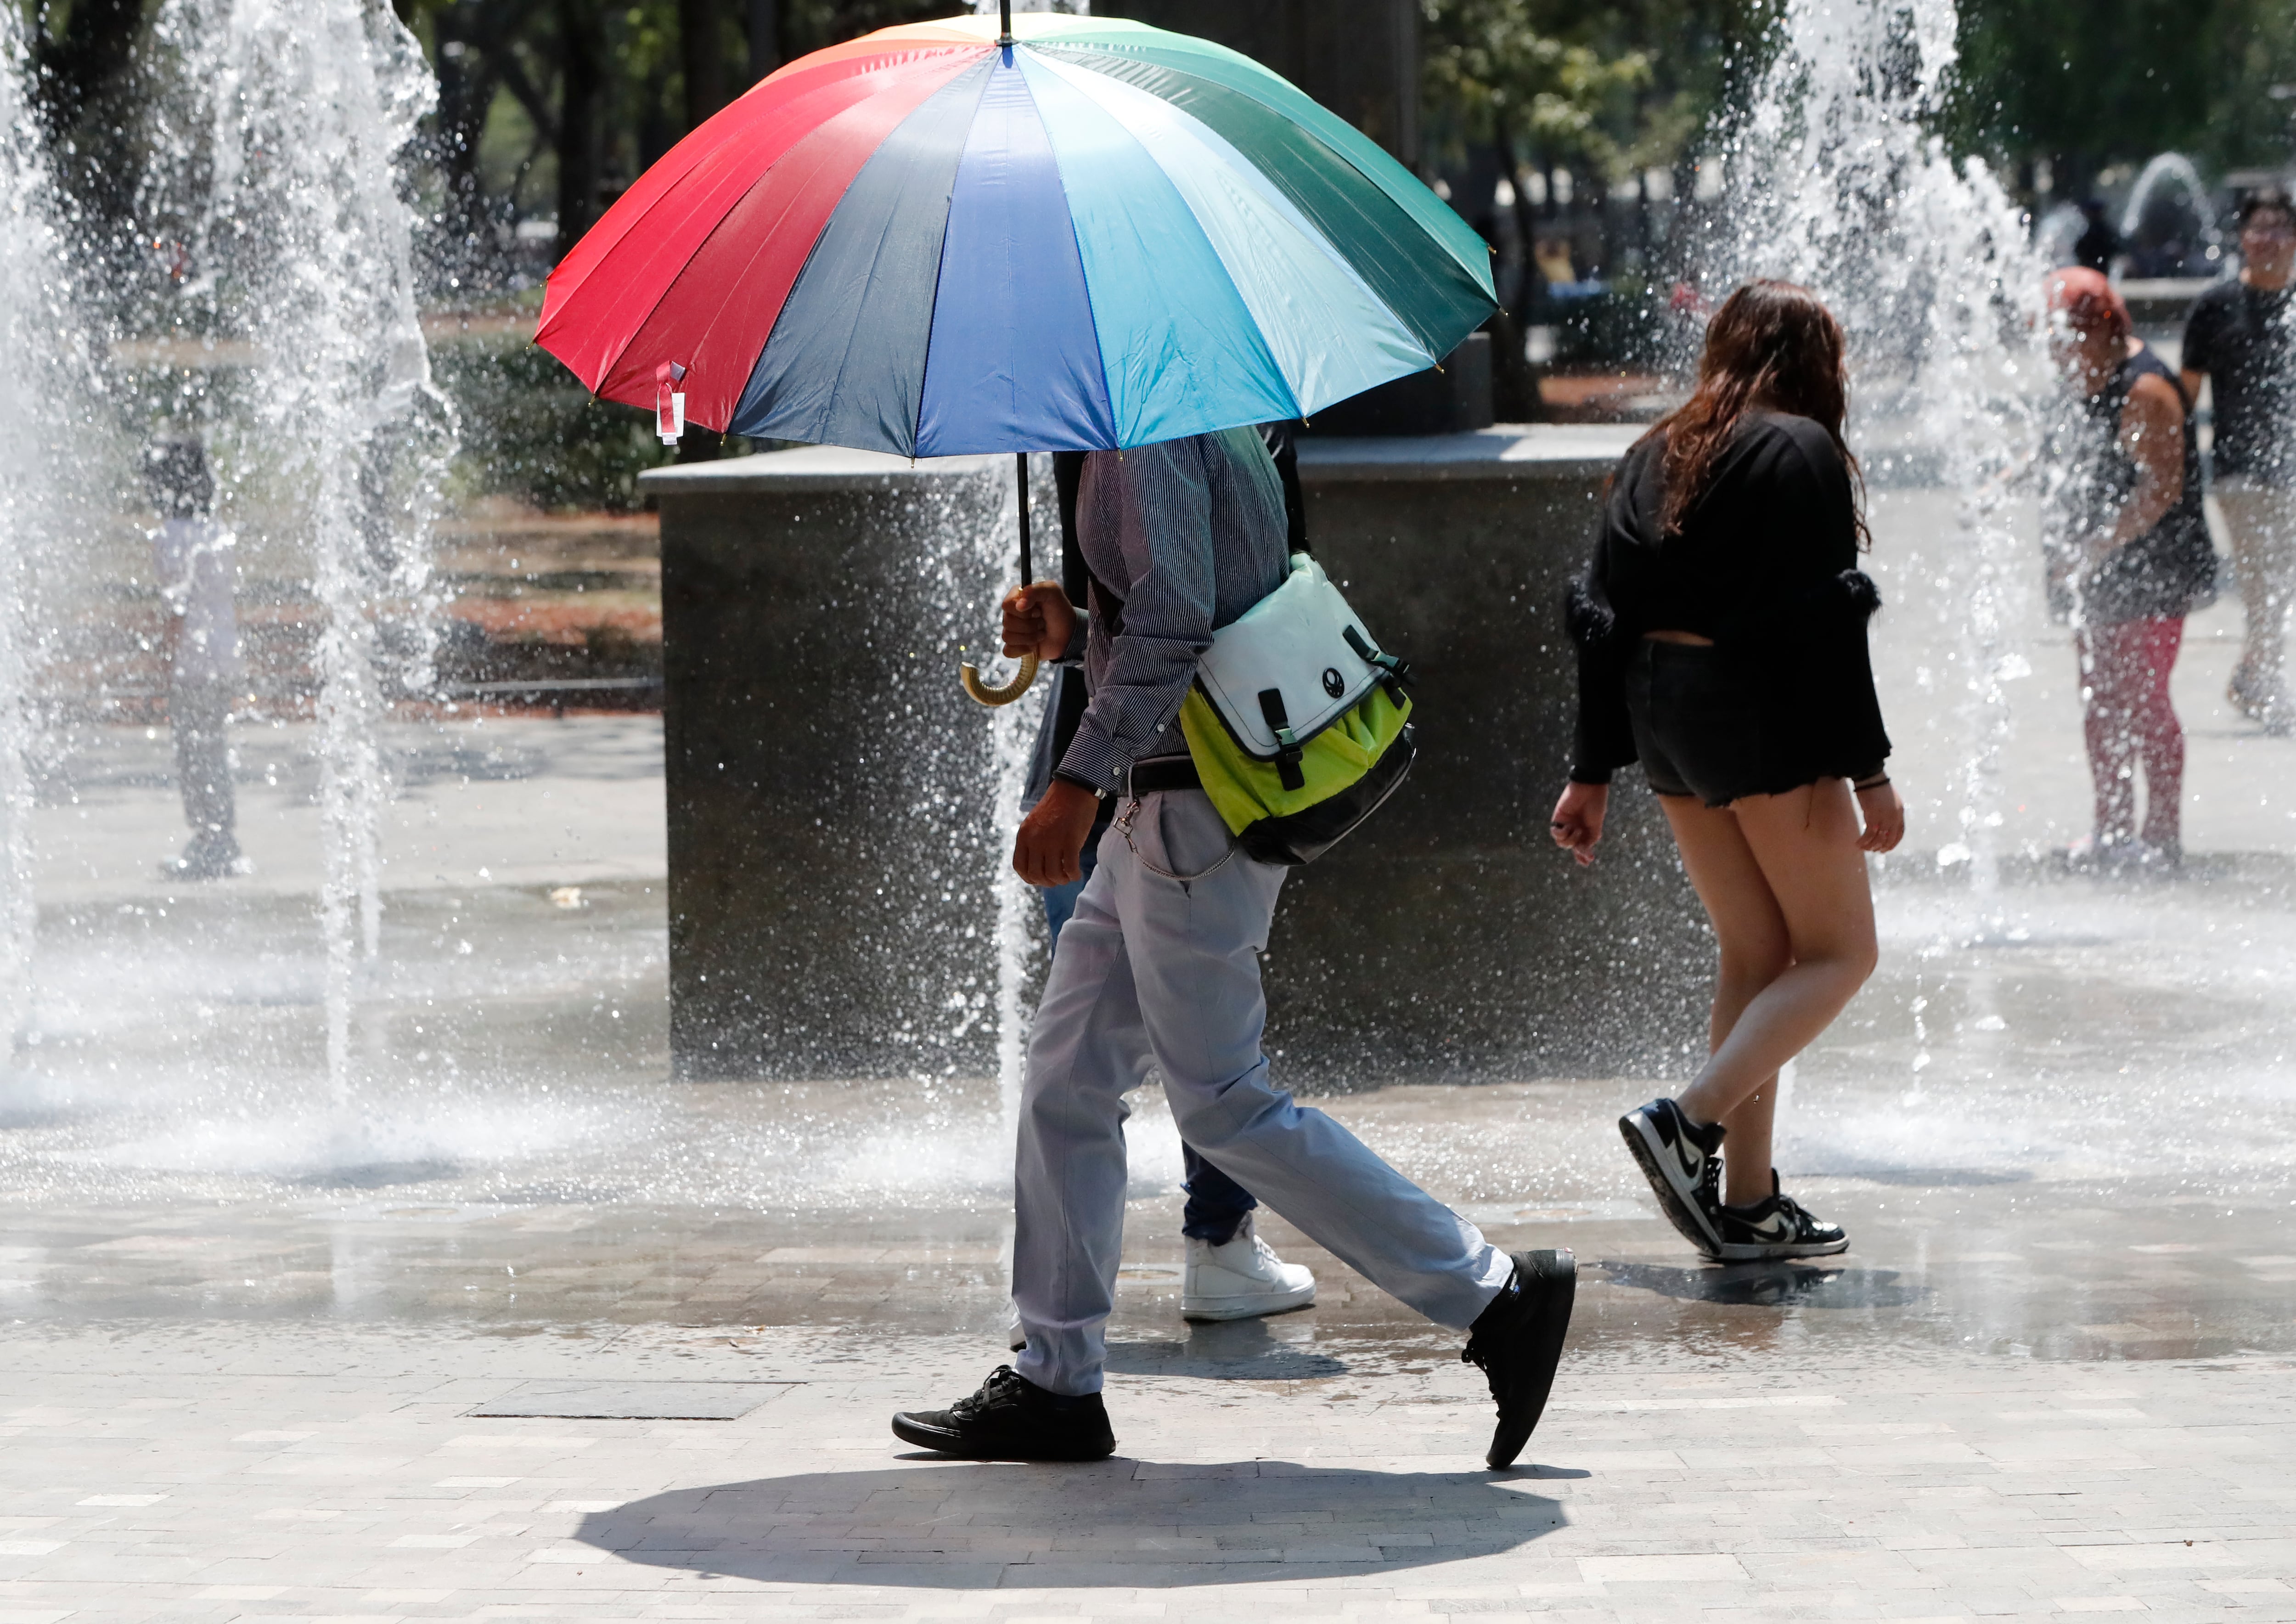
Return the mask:
<svg viewBox="0 0 2296 1624">
<path fill-rule="evenodd" d="M 625 1562 L 774 1583 L 1300 1583 L 1527 1546 L 1564 1521 L 1557 1500 L 1531 1493 L 1538 1472 L 921 1459 L 677 1488 L 592 1511 L 574 1537 Z"/>
</svg>

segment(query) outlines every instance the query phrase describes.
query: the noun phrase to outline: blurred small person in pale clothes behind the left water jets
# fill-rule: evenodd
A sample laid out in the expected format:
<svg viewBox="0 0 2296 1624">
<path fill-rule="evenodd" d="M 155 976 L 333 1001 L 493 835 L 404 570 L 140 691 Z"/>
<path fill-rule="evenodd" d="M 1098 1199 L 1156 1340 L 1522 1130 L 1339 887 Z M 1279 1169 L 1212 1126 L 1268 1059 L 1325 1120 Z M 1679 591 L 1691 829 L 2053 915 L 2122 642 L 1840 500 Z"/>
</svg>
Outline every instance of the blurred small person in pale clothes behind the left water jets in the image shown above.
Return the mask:
<svg viewBox="0 0 2296 1624">
<path fill-rule="evenodd" d="M 168 611 L 168 726 L 191 843 L 161 864 L 170 880 L 248 873 L 239 852 L 227 724 L 239 691 L 239 613 L 232 533 L 214 519 L 216 480 L 197 439 L 158 439 L 145 450 L 145 487 L 161 524 L 152 567 Z"/>
</svg>

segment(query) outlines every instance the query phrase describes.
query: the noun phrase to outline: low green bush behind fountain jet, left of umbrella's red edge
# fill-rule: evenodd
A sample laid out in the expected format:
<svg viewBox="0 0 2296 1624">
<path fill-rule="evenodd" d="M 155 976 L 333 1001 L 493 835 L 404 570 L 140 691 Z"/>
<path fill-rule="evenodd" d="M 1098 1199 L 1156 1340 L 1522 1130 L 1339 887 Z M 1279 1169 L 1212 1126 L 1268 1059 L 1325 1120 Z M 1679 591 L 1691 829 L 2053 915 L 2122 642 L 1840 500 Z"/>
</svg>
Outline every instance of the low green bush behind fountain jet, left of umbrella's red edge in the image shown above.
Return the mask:
<svg viewBox="0 0 2296 1624">
<path fill-rule="evenodd" d="M 450 342 L 432 370 L 461 409 L 455 473 L 466 496 L 629 512 L 638 475 L 670 459 L 650 413 L 592 400 L 533 345 Z"/>
</svg>

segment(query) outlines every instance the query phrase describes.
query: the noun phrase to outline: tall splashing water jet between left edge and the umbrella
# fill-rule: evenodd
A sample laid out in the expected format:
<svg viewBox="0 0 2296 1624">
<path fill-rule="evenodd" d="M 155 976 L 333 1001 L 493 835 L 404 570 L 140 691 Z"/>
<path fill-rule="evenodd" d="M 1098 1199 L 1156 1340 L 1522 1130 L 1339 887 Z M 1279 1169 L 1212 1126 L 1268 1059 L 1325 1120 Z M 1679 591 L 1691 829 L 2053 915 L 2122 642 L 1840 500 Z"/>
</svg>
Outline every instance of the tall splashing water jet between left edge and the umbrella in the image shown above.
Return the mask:
<svg viewBox="0 0 2296 1624">
<path fill-rule="evenodd" d="M 381 937 L 377 730 L 395 691 L 429 687 L 427 533 L 452 441 L 395 168 L 436 85 L 372 0 L 168 0 L 154 34 L 191 99 L 168 131 L 161 207 L 191 221 L 214 326 L 255 345 L 250 397 L 225 411 L 269 496 L 296 510 L 324 609 L 319 917 L 328 1086 L 344 1105 L 360 962 Z"/>
</svg>

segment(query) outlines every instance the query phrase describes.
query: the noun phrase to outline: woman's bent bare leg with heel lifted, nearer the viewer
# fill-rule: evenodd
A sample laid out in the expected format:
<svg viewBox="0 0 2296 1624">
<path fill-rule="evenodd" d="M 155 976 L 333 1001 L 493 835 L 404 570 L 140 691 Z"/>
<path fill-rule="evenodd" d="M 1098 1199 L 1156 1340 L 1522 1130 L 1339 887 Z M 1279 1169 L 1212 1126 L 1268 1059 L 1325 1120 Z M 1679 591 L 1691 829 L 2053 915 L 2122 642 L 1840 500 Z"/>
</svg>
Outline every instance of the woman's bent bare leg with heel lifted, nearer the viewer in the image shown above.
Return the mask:
<svg viewBox="0 0 2296 1624">
<path fill-rule="evenodd" d="M 1692 1121 L 1724 1121 L 1754 1093 L 1775 1100 L 1777 1068 L 1832 1024 L 1874 974 L 1876 960 L 1874 894 L 1864 852 L 1857 850 L 1857 804 L 1844 779 L 1784 795 L 1750 795 L 1729 815 L 1754 857 L 1770 907 L 1784 919 L 1791 962 L 1745 1004 L 1699 1080 L 1678 1096 Z M 1731 903 L 1733 917 L 1752 912 L 1736 894 Z M 1713 907 L 1708 903 L 1708 912 Z M 1724 935 L 1720 914 L 1715 935 Z M 1740 1178 L 1733 1176 L 1731 1185 L 1743 1194 Z M 1761 1194 L 1768 1194 L 1768 1169 Z"/>
</svg>

